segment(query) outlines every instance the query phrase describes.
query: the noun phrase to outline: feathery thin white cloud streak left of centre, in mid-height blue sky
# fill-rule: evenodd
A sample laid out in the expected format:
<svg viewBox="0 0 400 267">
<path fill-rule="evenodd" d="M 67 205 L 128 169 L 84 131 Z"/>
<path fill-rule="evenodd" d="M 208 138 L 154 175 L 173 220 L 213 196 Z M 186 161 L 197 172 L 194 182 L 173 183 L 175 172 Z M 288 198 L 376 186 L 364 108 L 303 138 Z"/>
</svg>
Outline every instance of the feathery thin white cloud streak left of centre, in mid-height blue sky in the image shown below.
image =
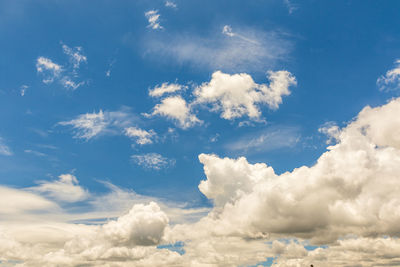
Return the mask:
<svg viewBox="0 0 400 267">
<path fill-rule="evenodd" d="M 70 121 L 59 122 L 62 126 L 75 129 L 74 138 L 89 140 L 104 134 L 122 134 L 124 129 L 137 120 L 128 108 L 118 111 L 86 113 Z"/>
</svg>

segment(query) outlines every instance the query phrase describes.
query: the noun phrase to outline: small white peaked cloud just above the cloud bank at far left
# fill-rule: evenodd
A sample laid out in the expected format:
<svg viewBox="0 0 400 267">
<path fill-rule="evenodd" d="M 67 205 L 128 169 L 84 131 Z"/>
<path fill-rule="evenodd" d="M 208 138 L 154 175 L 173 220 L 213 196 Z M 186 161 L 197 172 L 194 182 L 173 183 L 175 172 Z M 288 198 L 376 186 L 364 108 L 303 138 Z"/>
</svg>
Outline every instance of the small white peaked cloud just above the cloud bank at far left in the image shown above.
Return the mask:
<svg viewBox="0 0 400 267">
<path fill-rule="evenodd" d="M 79 185 L 72 174 L 61 174 L 56 181 L 39 181 L 30 190 L 62 202 L 76 202 L 89 197 L 89 192 Z"/>
</svg>

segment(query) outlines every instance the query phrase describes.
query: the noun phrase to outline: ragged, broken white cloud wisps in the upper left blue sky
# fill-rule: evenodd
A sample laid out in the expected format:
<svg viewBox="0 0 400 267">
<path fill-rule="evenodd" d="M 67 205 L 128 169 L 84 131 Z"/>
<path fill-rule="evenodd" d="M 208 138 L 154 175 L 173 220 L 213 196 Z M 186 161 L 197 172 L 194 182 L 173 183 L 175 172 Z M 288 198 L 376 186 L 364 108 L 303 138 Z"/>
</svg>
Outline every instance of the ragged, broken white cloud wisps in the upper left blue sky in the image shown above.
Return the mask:
<svg viewBox="0 0 400 267">
<path fill-rule="evenodd" d="M 76 90 L 86 81 L 74 81 L 79 75 L 78 70 L 82 63 L 87 63 L 87 58 L 83 54 L 82 47 L 71 48 L 62 44 L 63 53 L 68 56 L 69 65 L 59 65 L 51 59 L 39 57 L 36 60 L 36 71 L 44 76 L 42 80 L 45 84 L 58 81 L 64 88 Z M 25 88 L 26 89 L 26 88 Z M 24 91 L 25 93 L 25 91 Z M 22 94 L 22 91 L 21 91 Z"/>
</svg>

